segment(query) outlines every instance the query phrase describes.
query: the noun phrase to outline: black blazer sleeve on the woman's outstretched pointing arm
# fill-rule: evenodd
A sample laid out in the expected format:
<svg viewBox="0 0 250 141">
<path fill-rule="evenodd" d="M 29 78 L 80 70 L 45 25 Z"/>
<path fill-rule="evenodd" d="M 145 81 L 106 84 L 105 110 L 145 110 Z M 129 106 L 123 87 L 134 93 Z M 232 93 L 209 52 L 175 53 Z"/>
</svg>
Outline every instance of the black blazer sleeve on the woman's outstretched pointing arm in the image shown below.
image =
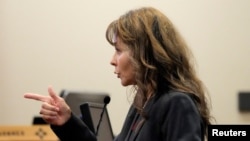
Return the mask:
<svg viewBox="0 0 250 141">
<path fill-rule="evenodd" d="M 97 141 L 95 134 L 74 114 L 64 125 L 51 125 L 51 129 L 60 141 Z"/>
</svg>

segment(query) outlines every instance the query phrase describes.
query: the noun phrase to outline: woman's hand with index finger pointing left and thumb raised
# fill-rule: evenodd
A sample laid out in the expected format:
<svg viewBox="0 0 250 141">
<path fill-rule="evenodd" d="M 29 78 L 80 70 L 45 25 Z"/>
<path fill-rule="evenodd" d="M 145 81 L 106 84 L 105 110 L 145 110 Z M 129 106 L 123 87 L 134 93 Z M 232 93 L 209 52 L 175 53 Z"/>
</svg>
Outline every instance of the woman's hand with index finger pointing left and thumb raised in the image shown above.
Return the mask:
<svg viewBox="0 0 250 141">
<path fill-rule="evenodd" d="M 56 95 L 52 87 L 48 87 L 48 92 L 49 96 L 25 93 L 24 97 L 43 102 L 40 114 L 47 123 L 58 126 L 63 125 L 69 120 L 71 109 L 62 97 Z"/>
</svg>

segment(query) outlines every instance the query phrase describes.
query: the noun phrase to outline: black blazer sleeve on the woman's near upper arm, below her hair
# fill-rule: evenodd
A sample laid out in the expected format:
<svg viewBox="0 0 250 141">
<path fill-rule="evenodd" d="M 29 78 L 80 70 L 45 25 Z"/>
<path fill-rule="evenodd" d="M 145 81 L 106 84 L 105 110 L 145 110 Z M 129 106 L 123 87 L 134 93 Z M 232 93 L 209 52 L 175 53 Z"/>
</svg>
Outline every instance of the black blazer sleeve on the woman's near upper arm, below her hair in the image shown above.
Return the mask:
<svg viewBox="0 0 250 141">
<path fill-rule="evenodd" d="M 201 118 L 186 94 L 173 94 L 164 105 L 162 132 L 166 141 L 202 141 Z"/>
</svg>

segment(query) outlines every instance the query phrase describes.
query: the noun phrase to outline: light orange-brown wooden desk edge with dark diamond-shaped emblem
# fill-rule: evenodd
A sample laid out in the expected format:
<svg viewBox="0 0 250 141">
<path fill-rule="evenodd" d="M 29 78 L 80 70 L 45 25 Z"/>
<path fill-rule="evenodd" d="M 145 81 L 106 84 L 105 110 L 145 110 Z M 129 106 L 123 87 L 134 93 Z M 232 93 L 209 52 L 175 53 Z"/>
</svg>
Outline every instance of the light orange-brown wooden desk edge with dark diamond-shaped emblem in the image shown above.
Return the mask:
<svg viewBox="0 0 250 141">
<path fill-rule="evenodd" d="M 49 125 L 0 126 L 0 141 L 59 141 Z"/>
</svg>

